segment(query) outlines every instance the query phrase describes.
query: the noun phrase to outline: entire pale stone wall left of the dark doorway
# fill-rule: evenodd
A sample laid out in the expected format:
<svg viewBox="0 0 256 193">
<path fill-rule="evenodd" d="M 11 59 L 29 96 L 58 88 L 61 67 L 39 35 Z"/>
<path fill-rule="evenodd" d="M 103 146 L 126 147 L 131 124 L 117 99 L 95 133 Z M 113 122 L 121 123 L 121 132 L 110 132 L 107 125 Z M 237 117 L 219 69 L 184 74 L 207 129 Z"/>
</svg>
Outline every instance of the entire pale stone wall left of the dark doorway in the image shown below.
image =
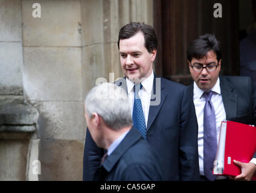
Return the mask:
<svg viewBox="0 0 256 193">
<path fill-rule="evenodd" d="M 35 134 L 0 139 L 0 180 L 82 180 L 83 100 L 97 78 L 123 77 L 118 32 L 130 21 L 153 25 L 153 0 L 36 2 L 40 18 L 32 16 L 34 1 L 0 1 L 0 95 L 39 112 Z"/>
</svg>

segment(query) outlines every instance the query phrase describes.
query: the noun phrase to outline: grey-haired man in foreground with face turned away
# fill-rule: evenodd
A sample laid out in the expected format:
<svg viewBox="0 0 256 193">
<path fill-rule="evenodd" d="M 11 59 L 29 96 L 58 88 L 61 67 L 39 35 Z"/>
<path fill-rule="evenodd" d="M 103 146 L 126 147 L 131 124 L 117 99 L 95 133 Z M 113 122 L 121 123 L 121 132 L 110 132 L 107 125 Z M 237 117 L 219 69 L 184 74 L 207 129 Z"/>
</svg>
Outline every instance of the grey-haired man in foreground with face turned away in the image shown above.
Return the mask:
<svg viewBox="0 0 256 193">
<path fill-rule="evenodd" d="M 126 92 L 115 84 L 95 86 L 86 96 L 88 130 L 107 150 L 93 180 L 162 180 L 158 157 L 132 127 L 130 111 Z"/>
</svg>

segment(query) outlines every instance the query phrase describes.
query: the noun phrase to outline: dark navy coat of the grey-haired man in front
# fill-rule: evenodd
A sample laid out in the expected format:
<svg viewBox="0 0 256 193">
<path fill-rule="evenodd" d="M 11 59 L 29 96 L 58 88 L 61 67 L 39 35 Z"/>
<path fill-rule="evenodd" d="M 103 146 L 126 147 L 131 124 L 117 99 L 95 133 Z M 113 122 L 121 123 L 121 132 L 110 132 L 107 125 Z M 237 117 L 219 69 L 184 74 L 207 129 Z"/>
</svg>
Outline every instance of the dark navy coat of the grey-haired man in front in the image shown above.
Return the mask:
<svg viewBox="0 0 256 193">
<path fill-rule="evenodd" d="M 162 180 L 159 157 L 133 127 L 118 147 L 98 169 L 99 179 L 106 181 Z"/>
</svg>

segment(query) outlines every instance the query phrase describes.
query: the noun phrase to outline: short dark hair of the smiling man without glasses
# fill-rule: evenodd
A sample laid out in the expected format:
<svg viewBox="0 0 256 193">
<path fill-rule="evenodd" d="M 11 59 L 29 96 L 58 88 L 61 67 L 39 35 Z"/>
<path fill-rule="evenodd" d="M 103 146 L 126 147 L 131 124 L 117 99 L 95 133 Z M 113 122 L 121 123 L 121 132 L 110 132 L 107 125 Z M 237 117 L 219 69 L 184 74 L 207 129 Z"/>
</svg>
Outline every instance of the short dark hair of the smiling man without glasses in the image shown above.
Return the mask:
<svg viewBox="0 0 256 193">
<path fill-rule="evenodd" d="M 140 22 L 130 22 L 129 24 L 124 25 L 120 31 L 118 36 L 118 49 L 120 40 L 129 39 L 132 36 L 135 36 L 137 33 L 141 32 L 144 34 L 145 39 L 145 47 L 148 52 L 152 52 L 158 46 L 158 38 L 156 37 L 155 30 L 147 24 Z"/>
</svg>

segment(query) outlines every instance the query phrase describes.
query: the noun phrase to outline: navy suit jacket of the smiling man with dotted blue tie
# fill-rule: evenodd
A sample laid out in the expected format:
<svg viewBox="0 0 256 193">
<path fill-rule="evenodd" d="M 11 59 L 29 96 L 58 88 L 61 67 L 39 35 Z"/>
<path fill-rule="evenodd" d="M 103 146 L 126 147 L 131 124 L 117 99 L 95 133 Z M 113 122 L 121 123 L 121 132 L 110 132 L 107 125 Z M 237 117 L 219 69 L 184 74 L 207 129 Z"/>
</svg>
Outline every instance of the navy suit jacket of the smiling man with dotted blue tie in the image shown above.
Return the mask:
<svg viewBox="0 0 256 193">
<path fill-rule="evenodd" d="M 164 78 L 158 80 L 161 80 L 159 89 L 156 87 L 158 81 L 154 76 L 152 95 L 160 90 L 161 100 L 157 106 L 150 105 L 147 142 L 158 153 L 164 180 L 197 180 L 199 179 L 198 126 L 193 100 L 184 85 Z M 121 78 L 116 84 L 127 90 L 125 78 Z M 93 179 L 103 154 L 104 150 L 97 148 L 87 131 L 84 180 Z"/>
</svg>

